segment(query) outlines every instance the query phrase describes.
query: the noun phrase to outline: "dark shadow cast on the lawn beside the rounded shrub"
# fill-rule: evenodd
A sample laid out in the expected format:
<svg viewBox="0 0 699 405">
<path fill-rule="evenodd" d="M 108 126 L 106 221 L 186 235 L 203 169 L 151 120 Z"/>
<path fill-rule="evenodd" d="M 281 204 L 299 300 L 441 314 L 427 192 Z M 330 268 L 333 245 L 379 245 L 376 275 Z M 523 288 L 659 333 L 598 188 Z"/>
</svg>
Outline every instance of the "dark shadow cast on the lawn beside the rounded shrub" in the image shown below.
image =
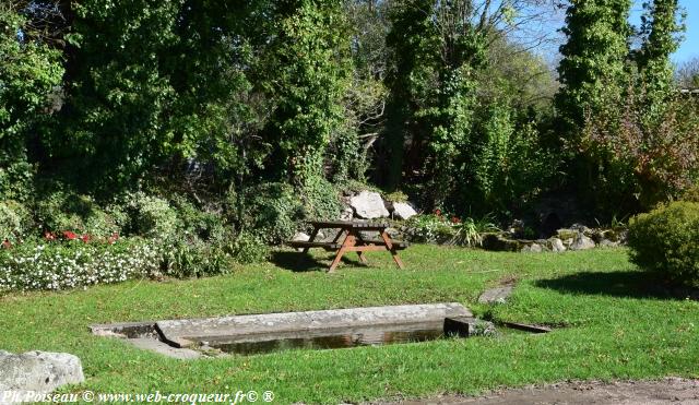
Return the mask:
<svg viewBox="0 0 699 405">
<path fill-rule="evenodd" d="M 582 272 L 558 278 L 538 279 L 534 285 L 560 293 L 606 295 L 625 298 L 676 299 L 673 290 L 643 272 Z"/>
</svg>

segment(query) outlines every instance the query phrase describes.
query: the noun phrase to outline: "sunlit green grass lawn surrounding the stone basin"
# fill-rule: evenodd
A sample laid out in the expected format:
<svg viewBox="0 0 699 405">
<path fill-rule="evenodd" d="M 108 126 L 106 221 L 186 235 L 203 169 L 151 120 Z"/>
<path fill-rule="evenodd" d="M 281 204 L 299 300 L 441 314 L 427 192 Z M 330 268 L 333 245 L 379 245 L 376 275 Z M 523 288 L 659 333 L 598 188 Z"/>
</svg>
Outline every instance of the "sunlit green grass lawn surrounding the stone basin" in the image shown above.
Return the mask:
<svg viewBox="0 0 699 405">
<path fill-rule="evenodd" d="M 87 381 L 71 391 L 273 391 L 279 403 L 337 403 L 476 393 L 567 379 L 699 377 L 699 302 L 655 293 L 627 252 L 491 253 L 414 246 L 407 270 L 386 253 L 336 274 L 327 253 L 242 266 L 202 279 L 128 282 L 0 298 L 0 349 L 75 354 Z M 274 264 L 276 263 L 276 264 Z M 477 296 L 518 279 L 506 305 Z M 230 313 L 458 301 L 496 321 L 560 326 L 544 335 L 439 340 L 335 350 L 291 350 L 182 361 L 92 336 L 87 325 Z"/>
</svg>

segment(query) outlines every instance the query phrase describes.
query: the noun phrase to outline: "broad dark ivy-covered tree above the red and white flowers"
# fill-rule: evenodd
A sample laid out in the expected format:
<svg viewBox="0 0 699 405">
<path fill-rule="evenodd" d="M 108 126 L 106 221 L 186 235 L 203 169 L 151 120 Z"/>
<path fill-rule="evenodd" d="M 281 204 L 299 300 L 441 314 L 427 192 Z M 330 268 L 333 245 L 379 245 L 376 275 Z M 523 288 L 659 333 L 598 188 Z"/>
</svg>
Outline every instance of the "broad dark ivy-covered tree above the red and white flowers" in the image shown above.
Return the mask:
<svg viewBox="0 0 699 405">
<path fill-rule="evenodd" d="M 52 166 L 82 188 L 134 183 L 165 159 L 177 94 L 168 59 L 179 1 L 70 2 L 61 121 L 45 140 Z"/>
</svg>

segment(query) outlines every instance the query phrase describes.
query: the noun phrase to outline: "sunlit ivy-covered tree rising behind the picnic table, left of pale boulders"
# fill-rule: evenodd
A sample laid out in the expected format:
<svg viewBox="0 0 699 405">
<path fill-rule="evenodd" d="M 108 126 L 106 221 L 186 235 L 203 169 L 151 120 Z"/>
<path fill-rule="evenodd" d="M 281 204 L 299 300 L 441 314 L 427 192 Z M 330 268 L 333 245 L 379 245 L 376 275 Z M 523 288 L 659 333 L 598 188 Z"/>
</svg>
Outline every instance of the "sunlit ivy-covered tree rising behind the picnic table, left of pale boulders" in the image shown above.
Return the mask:
<svg viewBox="0 0 699 405">
<path fill-rule="evenodd" d="M 343 123 L 351 80 L 347 25 L 340 2 L 286 0 L 276 4 L 264 86 L 273 98 L 270 141 L 276 166 L 304 189 L 323 178 L 323 154 Z M 274 168 L 274 167 L 273 167 Z"/>
</svg>

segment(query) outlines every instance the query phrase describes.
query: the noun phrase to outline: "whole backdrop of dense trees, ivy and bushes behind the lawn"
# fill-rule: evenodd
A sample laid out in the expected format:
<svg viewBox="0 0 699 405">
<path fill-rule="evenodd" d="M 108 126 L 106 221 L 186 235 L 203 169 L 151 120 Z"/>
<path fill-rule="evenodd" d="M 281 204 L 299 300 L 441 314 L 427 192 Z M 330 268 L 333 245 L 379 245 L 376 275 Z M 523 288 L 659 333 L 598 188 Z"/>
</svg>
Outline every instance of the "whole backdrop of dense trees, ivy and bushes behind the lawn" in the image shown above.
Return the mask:
<svg viewBox="0 0 699 405">
<path fill-rule="evenodd" d="M 0 241 L 146 238 L 200 275 L 336 218 L 356 184 L 532 226 L 545 198 L 605 221 L 680 195 L 677 1 L 638 32 L 630 0 L 566 2 L 558 82 L 524 35 L 544 3 L 3 1 Z"/>
</svg>

